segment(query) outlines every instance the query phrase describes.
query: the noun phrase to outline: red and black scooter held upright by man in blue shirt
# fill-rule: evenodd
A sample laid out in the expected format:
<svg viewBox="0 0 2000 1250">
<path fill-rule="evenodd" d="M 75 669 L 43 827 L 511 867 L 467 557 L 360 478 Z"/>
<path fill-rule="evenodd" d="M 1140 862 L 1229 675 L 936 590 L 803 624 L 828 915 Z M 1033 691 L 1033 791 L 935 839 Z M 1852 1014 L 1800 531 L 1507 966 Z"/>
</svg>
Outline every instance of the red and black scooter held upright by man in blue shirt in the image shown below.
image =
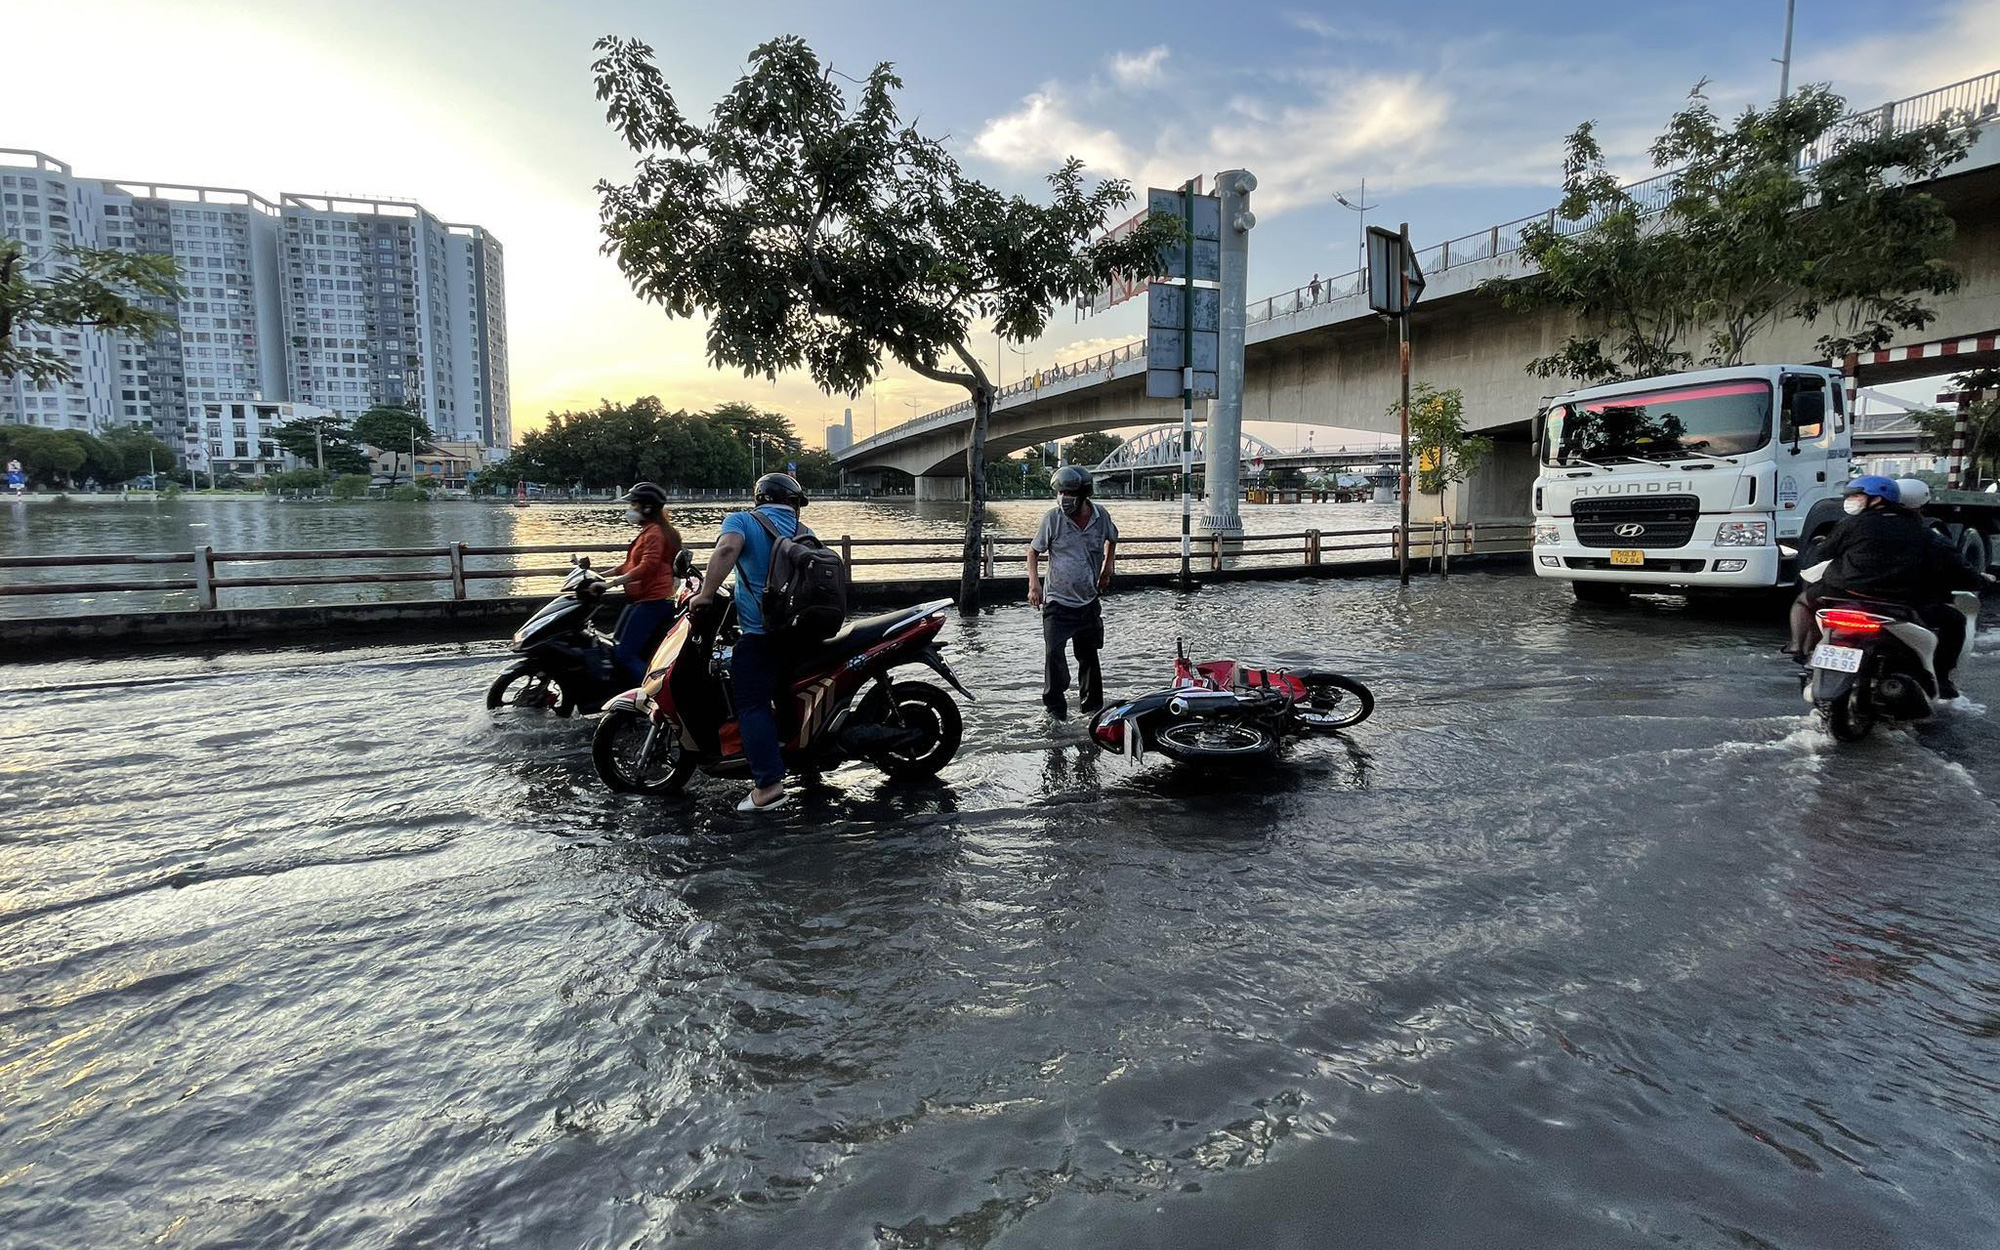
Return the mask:
<svg viewBox="0 0 2000 1250">
<path fill-rule="evenodd" d="M 682 590 L 680 602 L 692 596 Z M 790 700 L 778 708 L 784 760 L 820 772 L 866 760 L 898 780 L 944 768 L 964 738 L 952 696 L 930 682 L 896 680 L 922 664 L 968 700 L 938 656 L 936 636 L 952 600 L 918 604 L 850 622 L 826 642 L 792 656 Z M 682 610 L 652 656 L 646 680 L 604 708 L 590 760 L 612 790 L 676 794 L 696 770 L 750 776 L 730 702 L 736 604 L 728 590 L 698 610 Z"/>
</svg>

